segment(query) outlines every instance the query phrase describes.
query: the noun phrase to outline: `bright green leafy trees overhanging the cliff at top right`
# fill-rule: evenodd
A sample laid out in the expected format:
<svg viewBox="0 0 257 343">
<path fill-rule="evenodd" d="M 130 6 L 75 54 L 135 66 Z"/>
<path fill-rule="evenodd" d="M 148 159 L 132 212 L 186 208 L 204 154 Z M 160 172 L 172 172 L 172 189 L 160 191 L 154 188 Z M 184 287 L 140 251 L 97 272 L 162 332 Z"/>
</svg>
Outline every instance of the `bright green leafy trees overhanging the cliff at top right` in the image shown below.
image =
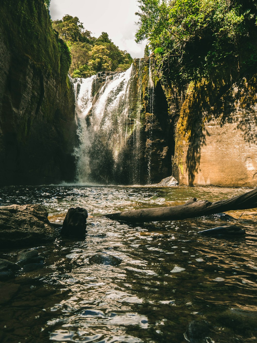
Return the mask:
<svg viewBox="0 0 257 343">
<path fill-rule="evenodd" d="M 148 39 L 159 71 L 180 84 L 236 80 L 257 67 L 257 1 L 139 0 L 136 41 Z"/>
</svg>

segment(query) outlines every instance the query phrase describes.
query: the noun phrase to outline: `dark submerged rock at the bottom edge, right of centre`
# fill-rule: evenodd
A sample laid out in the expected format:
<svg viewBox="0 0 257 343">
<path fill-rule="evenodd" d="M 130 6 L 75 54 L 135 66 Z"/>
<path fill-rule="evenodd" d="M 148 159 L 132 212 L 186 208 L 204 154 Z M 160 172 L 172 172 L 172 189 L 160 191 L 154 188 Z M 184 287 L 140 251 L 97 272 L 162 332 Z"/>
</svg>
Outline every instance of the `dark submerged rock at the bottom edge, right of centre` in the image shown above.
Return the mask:
<svg viewBox="0 0 257 343">
<path fill-rule="evenodd" d="M 206 320 L 193 320 L 188 324 L 184 337 L 191 343 L 206 342 L 205 338 L 209 335 L 210 329 L 211 325 Z"/>
</svg>

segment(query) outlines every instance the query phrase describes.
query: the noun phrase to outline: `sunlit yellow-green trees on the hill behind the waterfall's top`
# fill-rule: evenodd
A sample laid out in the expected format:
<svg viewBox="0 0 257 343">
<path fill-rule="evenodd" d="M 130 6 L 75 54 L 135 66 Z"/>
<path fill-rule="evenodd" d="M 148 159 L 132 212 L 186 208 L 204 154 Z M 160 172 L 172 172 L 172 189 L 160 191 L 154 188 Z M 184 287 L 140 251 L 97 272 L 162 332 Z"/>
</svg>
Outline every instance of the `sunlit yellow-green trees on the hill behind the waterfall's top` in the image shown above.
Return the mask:
<svg viewBox="0 0 257 343">
<path fill-rule="evenodd" d="M 106 32 L 98 38 L 92 37 L 78 17 L 66 14 L 62 20 L 53 21 L 52 26 L 70 49 L 70 73 L 73 77 L 85 78 L 99 71 L 126 70 L 133 62 L 130 54 L 113 44 Z"/>
</svg>

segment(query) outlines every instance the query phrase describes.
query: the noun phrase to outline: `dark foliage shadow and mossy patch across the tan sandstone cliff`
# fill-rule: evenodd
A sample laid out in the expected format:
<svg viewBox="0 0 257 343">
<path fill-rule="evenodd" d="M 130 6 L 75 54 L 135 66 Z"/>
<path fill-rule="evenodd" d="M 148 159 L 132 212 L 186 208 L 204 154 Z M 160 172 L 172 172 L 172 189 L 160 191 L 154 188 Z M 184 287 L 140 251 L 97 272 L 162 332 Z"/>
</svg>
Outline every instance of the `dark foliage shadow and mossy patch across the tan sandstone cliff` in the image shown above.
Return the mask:
<svg viewBox="0 0 257 343">
<path fill-rule="evenodd" d="M 243 79 L 237 85 L 224 83 L 223 80 L 215 83 L 203 80 L 189 86 L 178 123 L 179 135 L 188 144 L 186 171 L 189 186 L 194 185 L 201 148 L 210 135 L 207 127 L 211 121 L 215 120 L 220 127 L 236 123 L 246 142 L 257 142 L 256 93 L 255 77 L 249 81 Z"/>
</svg>

